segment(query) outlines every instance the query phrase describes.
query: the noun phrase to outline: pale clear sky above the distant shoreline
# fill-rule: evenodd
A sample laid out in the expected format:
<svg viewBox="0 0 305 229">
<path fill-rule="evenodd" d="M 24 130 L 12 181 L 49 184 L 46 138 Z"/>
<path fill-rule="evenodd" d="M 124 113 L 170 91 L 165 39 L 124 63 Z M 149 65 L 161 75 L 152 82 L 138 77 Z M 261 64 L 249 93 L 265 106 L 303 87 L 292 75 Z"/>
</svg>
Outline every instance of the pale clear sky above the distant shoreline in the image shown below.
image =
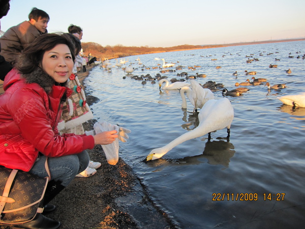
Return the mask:
<svg viewBox="0 0 305 229">
<path fill-rule="evenodd" d="M 1 30 L 28 20 L 33 7 L 50 16 L 48 32 L 83 29 L 81 42 L 172 47 L 305 38 L 304 0 L 11 0 Z"/>
</svg>

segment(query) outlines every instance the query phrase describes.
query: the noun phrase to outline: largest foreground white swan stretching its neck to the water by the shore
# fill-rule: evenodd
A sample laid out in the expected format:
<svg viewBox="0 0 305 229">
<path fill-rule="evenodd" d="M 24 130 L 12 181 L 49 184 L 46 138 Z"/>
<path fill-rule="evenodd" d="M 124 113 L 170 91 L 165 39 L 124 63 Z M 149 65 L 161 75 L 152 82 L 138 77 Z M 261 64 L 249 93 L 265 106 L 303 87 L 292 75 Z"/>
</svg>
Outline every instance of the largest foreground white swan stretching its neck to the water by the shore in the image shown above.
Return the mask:
<svg viewBox="0 0 305 229">
<path fill-rule="evenodd" d="M 182 134 L 164 147 L 150 151 L 146 157 L 146 161 L 156 160 L 182 142 L 200 137 L 215 130 L 227 128 L 227 138 L 229 138 L 233 118 L 234 110 L 227 98 L 211 99 L 204 104 L 199 112 L 199 126 L 197 128 Z"/>
</svg>

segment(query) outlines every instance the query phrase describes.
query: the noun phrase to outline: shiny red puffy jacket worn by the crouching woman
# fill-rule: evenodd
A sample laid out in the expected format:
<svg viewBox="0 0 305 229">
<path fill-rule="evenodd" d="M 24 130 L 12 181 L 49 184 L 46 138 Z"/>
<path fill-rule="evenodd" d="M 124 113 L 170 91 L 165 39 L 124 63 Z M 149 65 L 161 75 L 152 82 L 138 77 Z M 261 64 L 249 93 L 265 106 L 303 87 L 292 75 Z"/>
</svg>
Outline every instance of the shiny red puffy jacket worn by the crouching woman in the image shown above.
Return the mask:
<svg viewBox="0 0 305 229">
<path fill-rule="evenodd" d="M 60 157 L 94 148 L 93 136 L 58 134 L 60 99 L 70 89 L 50 85 L 47 94 L 44 83 L 42 87 L 40 82 L 26 83 L 15 69 L 5 77 L 5 93 L 0 96 L 0 165 L 29 171 L 39 152 Z"/>
</svg>

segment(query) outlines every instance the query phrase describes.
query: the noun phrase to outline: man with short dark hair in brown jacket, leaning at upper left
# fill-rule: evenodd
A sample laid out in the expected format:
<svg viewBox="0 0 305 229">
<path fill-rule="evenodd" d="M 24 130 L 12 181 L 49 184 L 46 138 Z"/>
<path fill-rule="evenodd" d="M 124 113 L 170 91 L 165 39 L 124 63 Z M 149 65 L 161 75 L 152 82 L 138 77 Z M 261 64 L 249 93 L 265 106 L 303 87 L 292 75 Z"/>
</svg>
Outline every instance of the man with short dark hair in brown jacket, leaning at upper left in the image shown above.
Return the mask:
<svg viewBox="0 0 305 229">
<path fill-rule="evenodd" d="M 49 15 L 43 10 L 33 8 L 28 15 L 28 21 L 10 27 L 0 38 L 1 55 L 12 66 L 17 55 L 22 52 L 37 37 L 47 33 L 47 26 L 50 20 Z"/>
</svg>

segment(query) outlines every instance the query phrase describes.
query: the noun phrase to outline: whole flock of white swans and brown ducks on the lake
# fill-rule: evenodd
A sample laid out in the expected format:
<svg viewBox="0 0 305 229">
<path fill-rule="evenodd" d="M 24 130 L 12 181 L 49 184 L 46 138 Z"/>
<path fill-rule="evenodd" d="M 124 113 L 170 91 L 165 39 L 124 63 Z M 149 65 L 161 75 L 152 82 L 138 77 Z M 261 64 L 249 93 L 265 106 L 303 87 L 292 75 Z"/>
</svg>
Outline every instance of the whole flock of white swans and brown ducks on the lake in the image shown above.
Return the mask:
<svg viewBox="0 0 305 229">
<path fill-rule="evenodd" d="M 246 56 L 248 57 L 248 56 Z M 259 61 L 258 59 L 250 59 L 251 55 L 249 56 L 246 63 L 252 63 L 253 61 Z M 305 54 L 302 56 L 302 59 L 305 58 Z M 160 60 L 159 58 L 155 60 Z M 211 59 L 212 61 L 217 59 Z M 136 61 L 138 61 L 139 65 L 142 65 L 140 67 L 141 71 L 144 71 L 146 69 L 150 69 L 145 67 L 138 58 Z M 178 63 L 166 63 L 164 59 L 161 59 L 163 61 L 163 65 L 161 67 L 161 64 L 159 67 L 151 67 L 151 69 L 160 69 L 160 73 L 165 72 L 175 72 L 177 70 L 182 70 L 184 67 L 177 66 L 174 68 L 174 66 Z M 280 61 L 276 58 L 276 61 Z M 121 60 L 118 64 L 118 61 L 116 60 L 116 67 L 120 68 L 124 64 L 127 63 L 124 59 Z M 107 71 L 110 71 L 110 67 L 107 67 L 108 65 L 111 65 L 108 60 L 105 60 L 103 63 L 101 63 L 100 68 L 104 68 Z M 114 67 L 114 66 L 112 66 Z M 189 70 L 195 71 L 196 67 L 200 66 L 194 66 L 194 67 L 188 67 Z M 269 68 L 277 68 L 278 65 L 269 65 Z M 167 69 L 171 68 L 171 69 Z M 221 66 L 217 66 L 217 69 L 221 68 Z M 207 81 L 204 84 L 198 83 L 196 78 L 198 77 L 206 77 L 206 74 L 199 74 L 196 73 L 194 75 L 189 75 L 187 72 L 181 72 L 177 73 L 177 78 L 172 78 L 168 80 L 167 76 L 162 76 L 160 73 L 157 73 L 155 76 L 151 76 L 150 74 L 142 74 L 142 75 L 132 75 L 132 73 L 135 70 L 138 70 L 139 68 L 132 67 L 132 64 L 130 64 L 128 67 L 123 68 L 123 70 L 127 73 L 127 75 L 130 74 L 130 77 L 135 80 L 141 80 L 142 84 L 146 84 L 147 81 L 150 81 L 151 83 L 156 83 L 158 81 L 159 89 L 160 90 L 178 90 L 181 96 L 181 107 L 187 108 L 187 100 L 186 97 L 189 99 L 191 104 L 194 106 L 193 112 L 197 112 L 198 109 L 200 109 L 198 113 L 198 119 L 199 119 L 199 126 L 195 128 L 192 131 L 189 131 L 185 134 L 182 134 L 181 136 L 177 137 L 176 139 L 169 142 L 164 147 L 157 148 L 152 150 L 148 156 L 146 157 L 146 160 L 155 160 L 158 158 L 161 158 L 163 155 L 165 155 L 168 151 L 173 149 L 175 146 L 181 144 L 184 141 L 187 141 L 192 138 L 196 138 L 205 134 L 208 134 L 208 137 L 210 138 L 210 133 L 212 131 L 221 130 L 224 128 L 227 128 L 227 139 L 230 137 L 230 126 L 234 118 L 234 109 L 225 96 L 240 96 L 243 93 L 248 92 L 250 89 L 247 87 L 239 87 L 239 86 L 254 86 L 254 85 L 265 85 L 268 90 L 281 90 L 286 88 L 286 83 L 277 83 L 271 85 L 269 82 L 267 82 L 266 78 L 256 78 L 255 75 L 257 74 L 256 71 L 247 71 L 245 70 L 245 75 L 252 75 L 251 79 L 247 79 L 245 82 L 236 82 L 235 83 L 235 89 L 233 90 L 227 90 L 224 88 L 223 83 L 216 83 L 215 81 Z M 291 74 L 291 69 L 285 70 L 287 74 Z M 237 71 L 233 72 L 232 74 L 237 78 L 238 73 Z M 124 76 L 123 78 L 126 78 Z M 171 82 L 171 83 L 170 83 Z M 216 99 L 213 92 L 222 90 L 223 98 Z M 186 95 L 186 96 L 185 96 Z M 305 93 L 300 93 L 296 95 L 286 95 L 278 97 L 280 101 L 282 101 L 284 104 L 291 105 L 293 107 L 305 107 Z"/>
</svg>

